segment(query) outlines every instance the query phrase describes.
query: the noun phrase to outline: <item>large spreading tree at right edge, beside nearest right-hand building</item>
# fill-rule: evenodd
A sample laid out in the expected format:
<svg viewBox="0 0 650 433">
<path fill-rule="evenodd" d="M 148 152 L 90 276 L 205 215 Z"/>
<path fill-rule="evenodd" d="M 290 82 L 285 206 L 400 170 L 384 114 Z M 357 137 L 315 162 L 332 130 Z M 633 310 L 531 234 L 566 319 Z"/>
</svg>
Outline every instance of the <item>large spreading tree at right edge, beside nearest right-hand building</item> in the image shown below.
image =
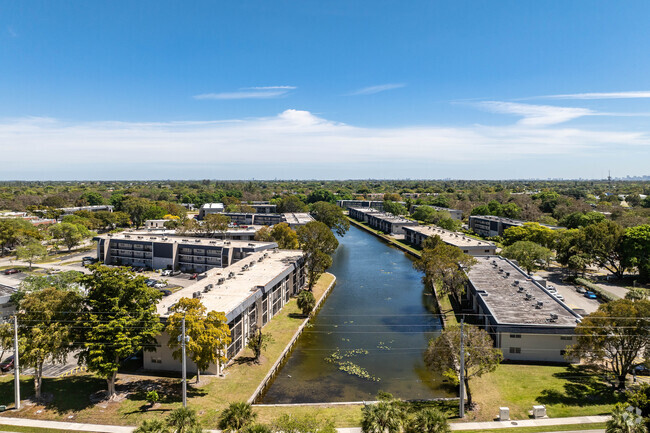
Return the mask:
<svg viewBox="0 0 650 433">
<path fill-rule="evenodd" d="M 619 388 L 638 357 L 650 347 L 650 301 L 618 299 L 601 304 L 576 326 L 569 357 L 593 362 L 616 376 Z"/>
</svg>

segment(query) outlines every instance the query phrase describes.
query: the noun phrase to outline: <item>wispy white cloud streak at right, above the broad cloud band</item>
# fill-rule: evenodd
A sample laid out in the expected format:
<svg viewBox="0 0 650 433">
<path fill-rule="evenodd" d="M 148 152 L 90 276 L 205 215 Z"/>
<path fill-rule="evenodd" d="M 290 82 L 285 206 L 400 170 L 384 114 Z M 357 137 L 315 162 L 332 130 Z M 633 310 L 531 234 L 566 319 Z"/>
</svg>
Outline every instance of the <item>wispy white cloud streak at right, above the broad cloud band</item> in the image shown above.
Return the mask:
<svg viewBox="0 0 650 433">
<path fill-rule="evenodd" d="M 545 126 L 568 122 L 583 116 L 599 113 L 588 108 L 555 107 L 552 105 L 531 105 L 515 102 L 485 101 L 478 104 L 480 108 L 494 113 L 522 116 L 518 124 L 523 126 Z"/>
</svg>

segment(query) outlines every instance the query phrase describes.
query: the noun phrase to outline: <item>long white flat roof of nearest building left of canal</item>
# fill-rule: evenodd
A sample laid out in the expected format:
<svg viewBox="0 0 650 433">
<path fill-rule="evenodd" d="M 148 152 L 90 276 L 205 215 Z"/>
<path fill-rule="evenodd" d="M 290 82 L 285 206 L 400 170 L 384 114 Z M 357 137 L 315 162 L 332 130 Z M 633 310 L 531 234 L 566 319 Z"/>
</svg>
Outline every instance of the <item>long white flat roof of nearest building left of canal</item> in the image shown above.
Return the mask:
<svg viewBox="0 0 650 433">
<path fill-rule="evenodd" d="M 230 321 L 262 297 L 262 288 L 284 271 L 291 270 L 301 257 L 302 251 L 299 250 L 259 251 L 227 268 L 210 269 L 205 273 L 205 278 L 164 297 L 158 303 L 158 314 L 168 317 L 169 307 L 180 298 L 192 298 L 194 293 L 201 292 L 201 303 L 206 309 L 223 312 Z M 248 265 L 248 268 L 243 270 L 245 265 Z M 234 276 L 228 278 L 231 273 Z M 218 284 L 221 278 L 225 281 Z M 206 286 L 210 284 L 212 287 L 205 291 Z"/>
</svg>

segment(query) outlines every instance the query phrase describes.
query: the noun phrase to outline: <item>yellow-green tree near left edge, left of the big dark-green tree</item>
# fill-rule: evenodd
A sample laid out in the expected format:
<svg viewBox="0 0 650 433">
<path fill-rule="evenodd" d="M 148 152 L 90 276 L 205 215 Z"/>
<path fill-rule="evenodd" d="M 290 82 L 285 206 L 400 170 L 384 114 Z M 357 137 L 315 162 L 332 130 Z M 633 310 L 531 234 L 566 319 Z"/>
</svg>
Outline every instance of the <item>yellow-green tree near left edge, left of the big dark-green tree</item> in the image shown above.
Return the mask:
<svg viewBox="0 0 650 433">
<path fill-rule="evenodd" d="M 82 296 L 76 290 L 54 287 L 30 292 L 18 308 L 20 357 L 34 368 L 34 391 L 41 399 L 43 363 L 64 362 L 73 349 L 75 327 Z"/>
</svg>

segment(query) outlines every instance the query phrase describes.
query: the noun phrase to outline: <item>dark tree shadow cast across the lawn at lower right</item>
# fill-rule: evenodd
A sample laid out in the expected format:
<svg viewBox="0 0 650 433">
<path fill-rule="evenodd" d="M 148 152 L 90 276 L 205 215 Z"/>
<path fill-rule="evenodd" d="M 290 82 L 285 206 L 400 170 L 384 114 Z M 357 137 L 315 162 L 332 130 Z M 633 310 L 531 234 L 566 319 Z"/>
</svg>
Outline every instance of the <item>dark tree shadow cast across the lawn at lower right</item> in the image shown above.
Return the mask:
<svg viewBox="0 0 650 433">
<path fill-rule="evenodd" d="M 553 377 L 566 381 L 564 390 L 543 390 L 537 397 L 537 401 L 541 404 L 584 407 L 615 404 L 622 400 L 622 396 L 609 384 L 585 367 L 570 365 L 566 371 L 555 373 Z"/>
</svg>

